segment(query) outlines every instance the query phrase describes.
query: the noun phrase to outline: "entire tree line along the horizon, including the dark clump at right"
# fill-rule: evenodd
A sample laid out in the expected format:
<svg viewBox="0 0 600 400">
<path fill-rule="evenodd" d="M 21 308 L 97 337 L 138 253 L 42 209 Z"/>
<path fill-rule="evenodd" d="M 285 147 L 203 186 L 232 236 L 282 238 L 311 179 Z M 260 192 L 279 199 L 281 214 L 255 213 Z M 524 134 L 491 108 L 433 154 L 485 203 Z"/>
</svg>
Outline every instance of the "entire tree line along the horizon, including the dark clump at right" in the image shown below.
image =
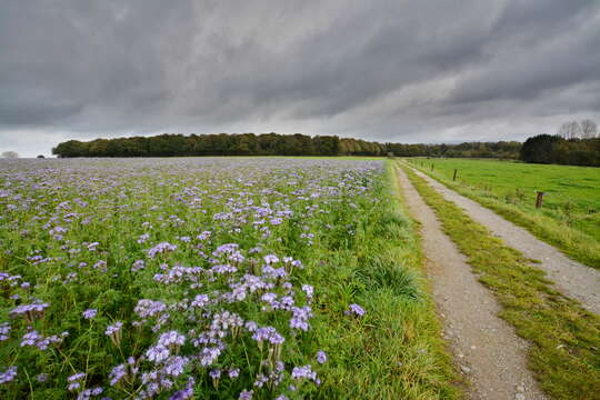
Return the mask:
<svg viewBox="0 0 600 400">
<path fill-rule="evenodd" d="M 564 127 L 566 124 L 563 124 Z M 562 129 L 562 128 L 561 128 Z M 560 132 L 560 131 L 559 131 Z M 596 132 L 596 131 L 594 131 Z M 600 167 L 600 138 L 571 130 L 517 141 L 460 144 L 378 143 L 337 136 L 279 133 L 174 134 L 69 140 L 52 153 L 71 157 L 191 157 L 191 156 L 396 156 L 520 159 L 526 162 Z"/>
</svg>

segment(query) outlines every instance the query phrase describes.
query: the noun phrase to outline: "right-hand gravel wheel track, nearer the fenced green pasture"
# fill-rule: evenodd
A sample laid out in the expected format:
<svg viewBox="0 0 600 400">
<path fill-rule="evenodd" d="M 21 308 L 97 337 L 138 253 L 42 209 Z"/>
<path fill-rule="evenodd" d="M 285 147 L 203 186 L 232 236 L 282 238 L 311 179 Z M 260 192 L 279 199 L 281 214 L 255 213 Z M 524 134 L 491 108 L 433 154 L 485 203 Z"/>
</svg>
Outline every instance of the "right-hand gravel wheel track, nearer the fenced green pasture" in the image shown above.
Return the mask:
<svg viewBox="0 0 600 400">
<path fill-rule="evenodd" d="M 600 271 L 571 260 L 552 246 L 537 239 L 526 229 L 507 221 L 490 209 L 478 202 L 448 189 L 433 178 L 412 169 L 419 177 L 442 194 L 454 202 L 474 221 L 481 223 L 492 234 L 501 238 L 504 243 L 519 250 L 526 257 L 541 261 L 537 268 L 547 273 L 561 293 L 577 299 L 581 306 L 591 312 L 600 314 Z"/>
</svg>

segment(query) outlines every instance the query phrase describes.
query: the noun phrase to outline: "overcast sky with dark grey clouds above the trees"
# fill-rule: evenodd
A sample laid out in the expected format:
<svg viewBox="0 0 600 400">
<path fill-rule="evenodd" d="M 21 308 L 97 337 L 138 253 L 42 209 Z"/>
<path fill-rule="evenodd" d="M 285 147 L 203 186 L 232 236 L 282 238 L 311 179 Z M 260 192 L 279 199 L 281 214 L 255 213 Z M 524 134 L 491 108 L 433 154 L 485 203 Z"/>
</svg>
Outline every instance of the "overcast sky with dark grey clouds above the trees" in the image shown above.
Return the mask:
<svg viewBox="0 0 600 400">
<path fill-rule="evenodd" d="M 0 152 L 158 133 L 524 140 L 600 123 L 594 0 L 0 0 Z"/>
</svg>

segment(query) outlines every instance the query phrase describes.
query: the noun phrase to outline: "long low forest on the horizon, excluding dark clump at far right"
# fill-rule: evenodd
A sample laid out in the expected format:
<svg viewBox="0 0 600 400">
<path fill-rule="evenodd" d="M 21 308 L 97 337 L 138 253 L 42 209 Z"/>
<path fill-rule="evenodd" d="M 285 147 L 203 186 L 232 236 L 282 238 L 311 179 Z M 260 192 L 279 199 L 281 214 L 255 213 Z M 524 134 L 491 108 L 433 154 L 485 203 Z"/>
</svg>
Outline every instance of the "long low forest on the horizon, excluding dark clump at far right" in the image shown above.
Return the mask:
<svg viewBox="0 0 600 400">
<path fill-rule="evenodd" d="M 337 136 L 278 133 L 172 134 L 69 140 L 52 149 L 59 157 L 189 157 L 189 156 L 398 156 L 518 159 L 517 141 L 460 144 L 378 143 Z"/>
</svg>

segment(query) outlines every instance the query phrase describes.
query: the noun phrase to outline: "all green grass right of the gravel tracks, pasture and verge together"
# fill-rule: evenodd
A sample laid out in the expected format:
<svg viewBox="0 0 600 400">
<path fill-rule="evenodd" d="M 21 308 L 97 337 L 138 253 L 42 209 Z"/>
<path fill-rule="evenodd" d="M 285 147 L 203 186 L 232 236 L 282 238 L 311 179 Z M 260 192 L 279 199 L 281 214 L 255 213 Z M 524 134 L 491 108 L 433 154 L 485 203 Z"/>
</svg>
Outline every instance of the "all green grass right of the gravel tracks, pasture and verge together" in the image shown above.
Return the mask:
<svg viewBox="0 0 600 400">
<path fill-rule="evenodd" d="M 467 159 L 409 162 L 573 259 L 600 268 L 600 169 Z M 546 193 L 541 209 L 536 209 L 536 191 Z"/>
</svg>

